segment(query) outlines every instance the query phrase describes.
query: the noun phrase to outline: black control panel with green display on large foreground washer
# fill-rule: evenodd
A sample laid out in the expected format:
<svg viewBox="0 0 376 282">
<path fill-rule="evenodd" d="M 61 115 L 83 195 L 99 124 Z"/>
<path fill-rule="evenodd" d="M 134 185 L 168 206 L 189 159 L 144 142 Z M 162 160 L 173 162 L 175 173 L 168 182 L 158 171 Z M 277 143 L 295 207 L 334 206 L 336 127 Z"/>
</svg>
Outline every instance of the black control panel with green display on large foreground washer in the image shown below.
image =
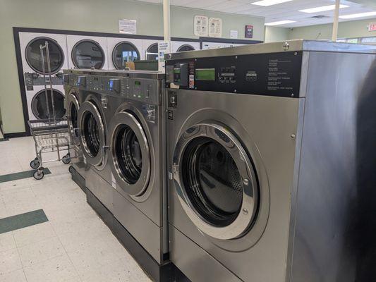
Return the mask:
<svg viewBox="0 0 376 282">
<path fill-rule="evenodd" d="M 299 97 L 303 53 L 166 60 L 166 87 Z"/>
</svg>

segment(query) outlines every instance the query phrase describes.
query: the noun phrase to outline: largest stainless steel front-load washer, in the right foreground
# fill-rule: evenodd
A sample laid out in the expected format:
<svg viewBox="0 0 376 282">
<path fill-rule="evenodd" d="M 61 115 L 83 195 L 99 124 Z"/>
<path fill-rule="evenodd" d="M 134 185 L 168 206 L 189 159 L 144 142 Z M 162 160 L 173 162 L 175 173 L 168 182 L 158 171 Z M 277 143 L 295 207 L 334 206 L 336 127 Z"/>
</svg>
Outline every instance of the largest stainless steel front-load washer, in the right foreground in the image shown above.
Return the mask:
<svg viewBox="0 0 376 282">
<path fill-rule="evenodd" d="M 357 281 L 375 71 L 358 44 L 166 55 L 171 262 L 197 282 Z"/>
</svg>

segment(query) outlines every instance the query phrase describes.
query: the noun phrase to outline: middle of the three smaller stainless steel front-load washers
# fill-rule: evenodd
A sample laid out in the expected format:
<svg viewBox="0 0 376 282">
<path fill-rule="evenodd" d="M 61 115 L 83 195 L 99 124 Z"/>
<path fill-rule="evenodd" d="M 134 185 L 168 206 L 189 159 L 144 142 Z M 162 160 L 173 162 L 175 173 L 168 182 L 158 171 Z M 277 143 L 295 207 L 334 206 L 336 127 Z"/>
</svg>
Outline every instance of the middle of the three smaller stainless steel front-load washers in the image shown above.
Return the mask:
<svg viewBox="0 0 376 282">
<path fill-rule="evenodd" d="M 78 128 L 83 161 L 89 170 L 85 173 L 86 188 L 112 212 L 111 168 L 108 163 L 108 124 L 113 109 L 107 103 L 102 74 L 104 71 L 74 70 L 80 90 Z"/>
</svg>

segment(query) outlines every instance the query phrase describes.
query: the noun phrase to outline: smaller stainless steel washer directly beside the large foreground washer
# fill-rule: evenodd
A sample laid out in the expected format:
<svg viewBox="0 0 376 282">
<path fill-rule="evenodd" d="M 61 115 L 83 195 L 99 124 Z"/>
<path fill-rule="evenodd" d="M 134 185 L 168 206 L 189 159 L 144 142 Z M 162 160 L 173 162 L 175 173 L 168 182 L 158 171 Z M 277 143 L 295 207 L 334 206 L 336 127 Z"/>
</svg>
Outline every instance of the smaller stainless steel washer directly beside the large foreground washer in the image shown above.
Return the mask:
<svg viewBox="0 0 376 282">
<path fill-rule="evenodd" d="M 116 109 L 109 123 L 114 217 L 162 265 L 168 257 L 164 73 L 121 75 L 121 103 L 109 98 Z"/>
</svg>

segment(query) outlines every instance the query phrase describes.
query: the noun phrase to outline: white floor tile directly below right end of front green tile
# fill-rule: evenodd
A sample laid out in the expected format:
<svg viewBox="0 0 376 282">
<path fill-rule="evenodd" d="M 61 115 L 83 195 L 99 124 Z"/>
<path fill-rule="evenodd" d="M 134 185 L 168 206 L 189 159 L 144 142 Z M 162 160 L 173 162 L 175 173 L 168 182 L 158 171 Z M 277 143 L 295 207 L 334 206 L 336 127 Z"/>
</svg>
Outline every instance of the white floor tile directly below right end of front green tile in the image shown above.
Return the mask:
<svg viewBox="0 0 376 282">
<path fill-rule="evenodd" d="M 13 231 L 14 240 L 18 247 L 56 237 L 50 222 L 44 222 Z"/>
</svg>

